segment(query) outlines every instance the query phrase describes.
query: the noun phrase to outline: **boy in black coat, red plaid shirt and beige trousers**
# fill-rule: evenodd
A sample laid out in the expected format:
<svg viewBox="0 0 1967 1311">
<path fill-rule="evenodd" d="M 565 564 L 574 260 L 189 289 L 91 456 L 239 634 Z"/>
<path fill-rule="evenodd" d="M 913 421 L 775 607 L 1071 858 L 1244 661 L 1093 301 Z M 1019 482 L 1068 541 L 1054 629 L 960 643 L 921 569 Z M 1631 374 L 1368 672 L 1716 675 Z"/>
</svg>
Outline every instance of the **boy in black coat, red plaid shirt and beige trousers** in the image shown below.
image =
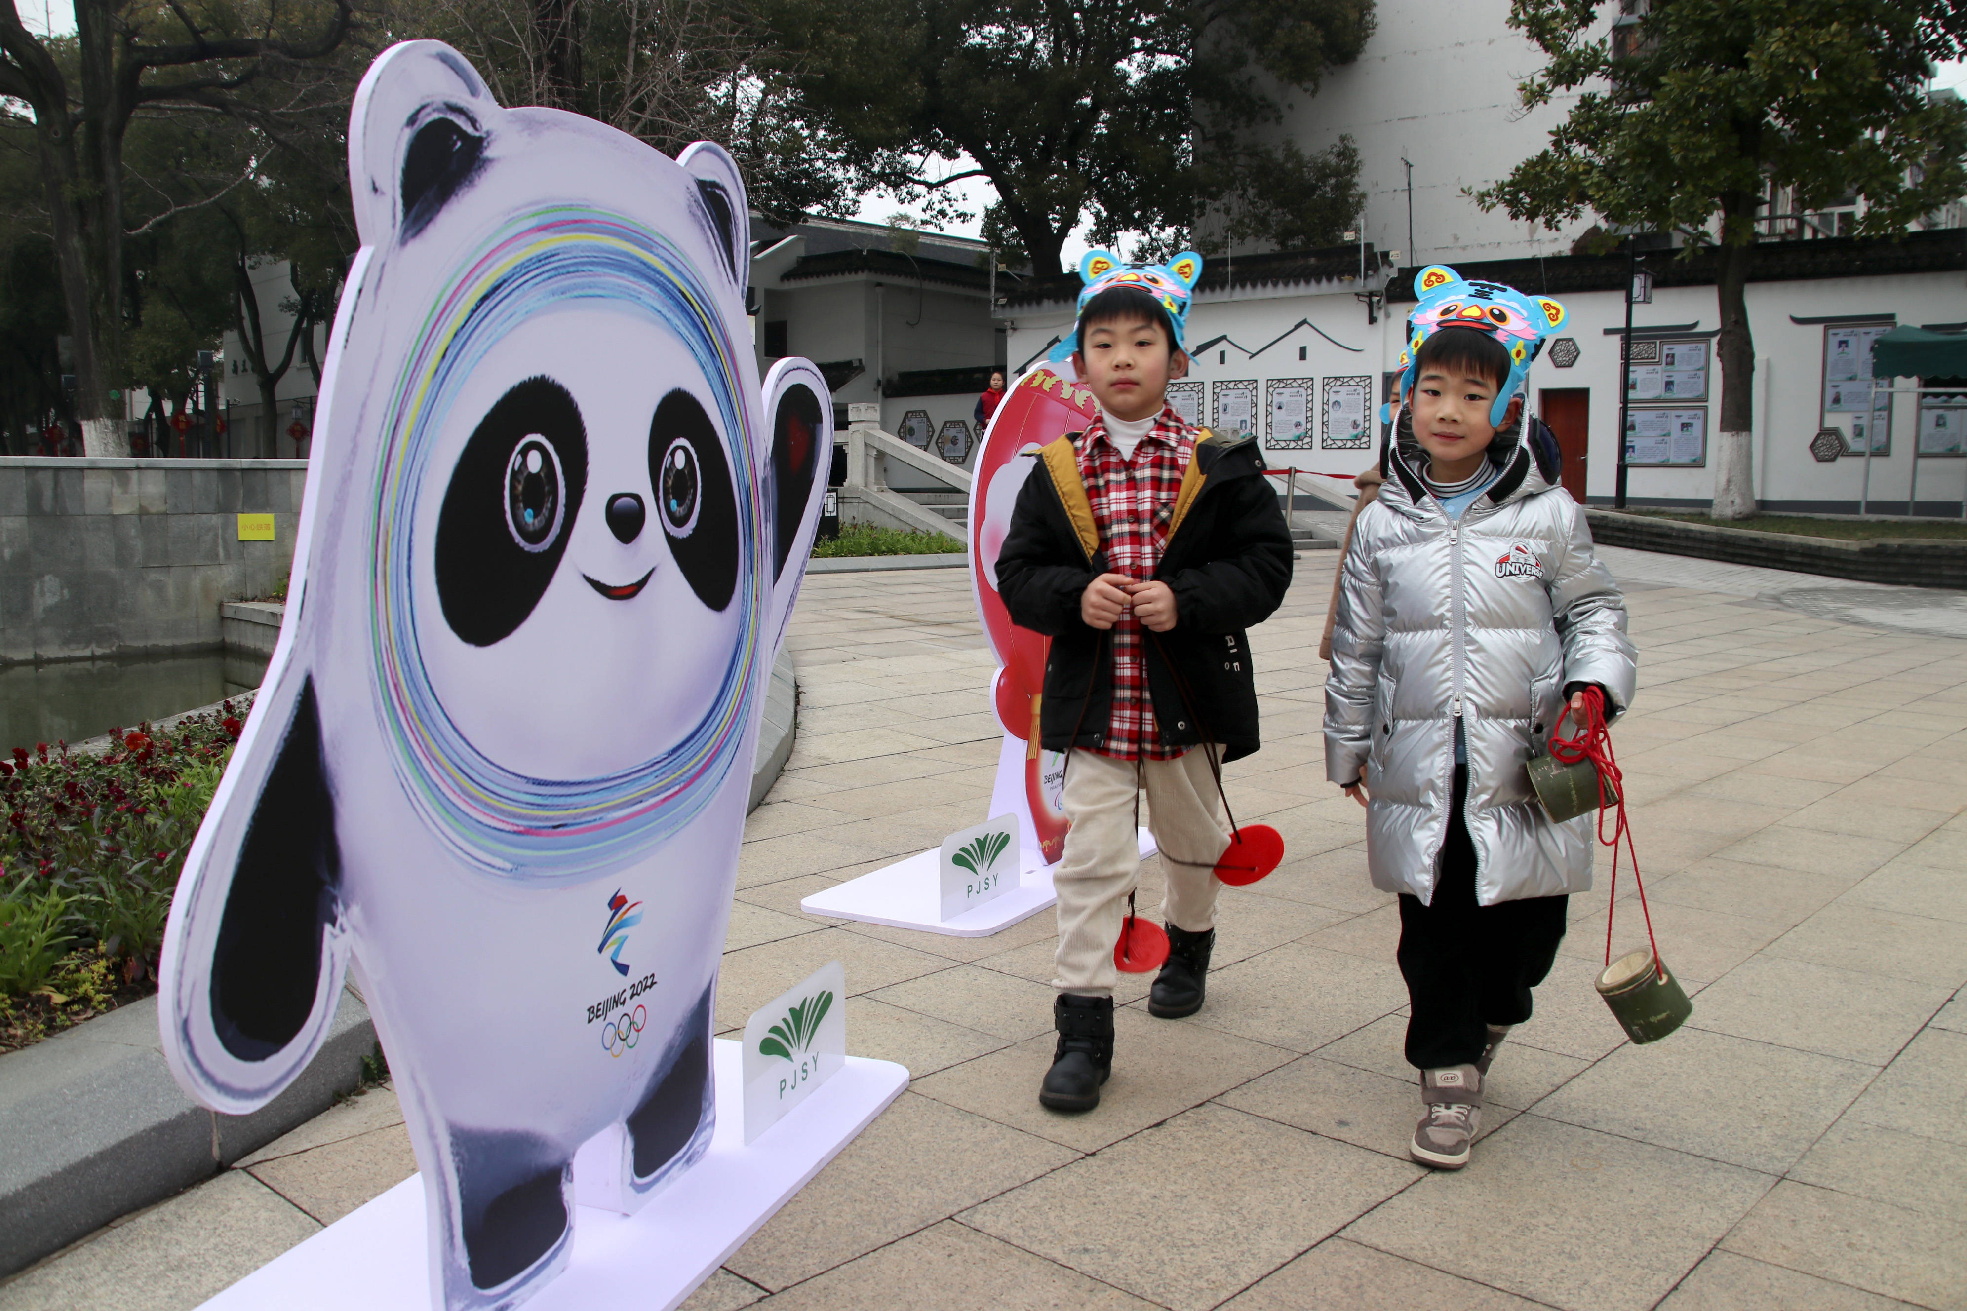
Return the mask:
<svg viewBox="0 0 1967 1311">
<path fill-rule="evenodd" d="M 1052 639 L 1041 743 L 1066 751 L 1058 890 L 1058 1048 L 1039 1101 L 1090 1111 L 1113 1067 L 1113 947 L 1139 875 L 1145 788 L 1166 873 L 1168 961 L 1149 1014 L 1202 1008 L 1216 945 L 1216 769 L 1257 749 L 1243 629 L 1290 586 L 1290 531 L 1253 436 L 1194 428 L 1166 403 L 1188 371 L 1182 320 L 1200 256 L 1166 267 L 1094 252 L 1072 366 L 1100 401 L 1039 452 L 997 556 L 1011 619 Z M 1078 438 L 1074 442 L 1074 438 Z"/>
</svg>

